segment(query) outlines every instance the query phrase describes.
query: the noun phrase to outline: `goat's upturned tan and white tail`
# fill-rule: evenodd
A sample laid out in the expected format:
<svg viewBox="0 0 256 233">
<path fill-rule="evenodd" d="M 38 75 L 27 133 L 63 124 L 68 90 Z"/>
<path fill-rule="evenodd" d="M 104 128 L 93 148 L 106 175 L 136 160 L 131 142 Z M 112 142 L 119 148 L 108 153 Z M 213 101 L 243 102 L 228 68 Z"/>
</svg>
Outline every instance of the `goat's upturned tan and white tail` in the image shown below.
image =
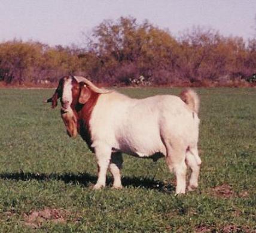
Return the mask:
<svg viewBox="0 0 256 233">
<path fill-rule="evenodd" d="M 191 108 L 191 110 L 199 113 L 200 100 L 195 91 L 190 88 L 185 89 L 181 94 L 179 94 L 179 97 L 188 105 L 188 107 Z"/>
</svg>

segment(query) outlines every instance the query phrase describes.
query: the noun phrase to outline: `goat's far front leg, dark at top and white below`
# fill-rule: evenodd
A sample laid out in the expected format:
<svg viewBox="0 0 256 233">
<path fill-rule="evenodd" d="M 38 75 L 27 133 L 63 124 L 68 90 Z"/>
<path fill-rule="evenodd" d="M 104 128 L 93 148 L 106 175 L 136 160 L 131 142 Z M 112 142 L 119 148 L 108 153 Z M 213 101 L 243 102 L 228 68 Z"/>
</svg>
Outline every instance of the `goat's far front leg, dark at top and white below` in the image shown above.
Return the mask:
<svg viewBox="0 0 256 233">
<path fill-rule="evenodd" d="M 123 188 L 121 184 L 120 170 L 123 164 L 123 157 L 121 153 L 112 153 L 109 163 L 109 170 L 113 176 L 113 188 Z"/>
</svg>

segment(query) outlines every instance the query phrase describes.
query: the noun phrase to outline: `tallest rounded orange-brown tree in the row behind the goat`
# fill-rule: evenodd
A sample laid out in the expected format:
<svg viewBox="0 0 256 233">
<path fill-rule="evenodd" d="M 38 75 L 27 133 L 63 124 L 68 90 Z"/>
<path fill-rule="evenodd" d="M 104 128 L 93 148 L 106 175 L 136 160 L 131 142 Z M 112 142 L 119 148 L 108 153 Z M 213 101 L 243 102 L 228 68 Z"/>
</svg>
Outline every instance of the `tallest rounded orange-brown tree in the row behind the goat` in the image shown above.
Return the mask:
<svg viewBox="0 0 256 233">
<path fill-rule="evenodd" d="M 97 69 L 92 67 L 95 73 L 89 73 L 103 82 L 129 83 L 130 78 L 141 75 L 157 82 L 157 70 L 174 69 L 178 57 L 178 42 L 169 32 L 148 21 L 138 24 L 132 17 L 103 21 L 93 30 L 90 45 L 84 57 L 88 60 L 88 54 L 93 54 Z"/>
</svg>

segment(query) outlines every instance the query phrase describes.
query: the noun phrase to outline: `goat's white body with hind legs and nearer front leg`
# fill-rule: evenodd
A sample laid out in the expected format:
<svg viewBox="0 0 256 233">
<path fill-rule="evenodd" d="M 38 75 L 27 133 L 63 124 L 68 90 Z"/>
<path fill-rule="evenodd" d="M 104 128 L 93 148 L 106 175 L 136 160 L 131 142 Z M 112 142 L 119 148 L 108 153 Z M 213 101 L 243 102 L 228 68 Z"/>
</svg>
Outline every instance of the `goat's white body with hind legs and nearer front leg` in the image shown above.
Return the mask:
<svg viewBox="0 0 256 233">
<path fill-rule="evenodd" d="M 177 194 L 185 193 L 186 159 L 193 174 L 188 189 L 197 187 L 199 118 L 179 97 L 157 95 L 137 100 L 118 92 L 102 94 L 92 112 L 90 129 L 99 166 L 95 188 L 105 186 L 111 149 L 138 157 L 162 153 L 175 172 Z"/>
</svg>

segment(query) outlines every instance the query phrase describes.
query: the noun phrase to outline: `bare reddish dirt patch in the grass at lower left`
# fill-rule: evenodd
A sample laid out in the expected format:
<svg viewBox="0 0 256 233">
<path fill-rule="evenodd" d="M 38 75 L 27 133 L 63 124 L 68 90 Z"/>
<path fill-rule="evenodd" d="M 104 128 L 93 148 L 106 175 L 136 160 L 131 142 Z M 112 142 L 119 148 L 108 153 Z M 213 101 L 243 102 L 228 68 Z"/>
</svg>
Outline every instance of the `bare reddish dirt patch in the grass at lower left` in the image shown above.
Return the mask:
<svg viewBox="0 0 256 233">
<path fill-rule="evenodd" d="M 29 215 L 24 215 L 25 225 L 32 228 L 40 228 L 44 222 L 65 223 L 71 215 L 68 210 L 44 209 L 33 210 Z"/>
</svg>

